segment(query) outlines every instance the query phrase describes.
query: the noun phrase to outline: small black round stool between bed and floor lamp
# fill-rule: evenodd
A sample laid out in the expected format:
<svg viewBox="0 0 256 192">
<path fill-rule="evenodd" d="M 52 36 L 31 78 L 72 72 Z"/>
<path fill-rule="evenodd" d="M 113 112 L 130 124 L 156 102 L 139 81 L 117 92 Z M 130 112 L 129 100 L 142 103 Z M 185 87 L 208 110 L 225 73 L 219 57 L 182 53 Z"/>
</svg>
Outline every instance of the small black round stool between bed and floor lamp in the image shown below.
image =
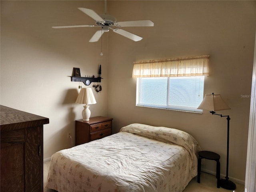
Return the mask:
<svg viewBox="0 0 256 192">
<path fill-rule="evenodd" d="M 200 183 L 201 160 L 202 159 L 214 160 L 217 163 L 217 166 L 216 166 L 217 188 L 220 188 L 220 155 L 211 151 L 200 151 L 198 155 L 199 157 L 198 157 L 198 165 L 197 165 L 197 182 Z"/>
</svg>

